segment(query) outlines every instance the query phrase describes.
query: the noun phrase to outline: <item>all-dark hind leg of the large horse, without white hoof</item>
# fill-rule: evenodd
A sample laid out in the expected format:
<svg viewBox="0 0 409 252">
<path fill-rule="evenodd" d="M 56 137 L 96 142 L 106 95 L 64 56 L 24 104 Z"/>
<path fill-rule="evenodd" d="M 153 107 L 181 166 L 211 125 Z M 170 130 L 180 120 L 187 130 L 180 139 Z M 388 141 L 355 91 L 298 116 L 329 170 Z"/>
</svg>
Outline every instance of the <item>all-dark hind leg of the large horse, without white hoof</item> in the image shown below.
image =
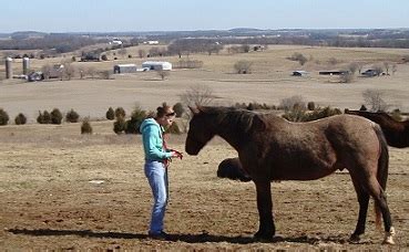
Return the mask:
<svg viewBox="0 0 409 252">
<path fill-rule="evenodd" d="M 357 177 L 351 175 L 351 178 L 352 178 L 355 191 L 357 192 L 357 197 L 358 197 L 359 216 L 358 216 L 357 227 L 350 237 L 350 241 L 357 242 L 360 239 L 359 235 L 365 233 L 365 223 L 367 220 L 368 204 L 369 204 L 369 193 L 359 183 Z"/>
</svg>

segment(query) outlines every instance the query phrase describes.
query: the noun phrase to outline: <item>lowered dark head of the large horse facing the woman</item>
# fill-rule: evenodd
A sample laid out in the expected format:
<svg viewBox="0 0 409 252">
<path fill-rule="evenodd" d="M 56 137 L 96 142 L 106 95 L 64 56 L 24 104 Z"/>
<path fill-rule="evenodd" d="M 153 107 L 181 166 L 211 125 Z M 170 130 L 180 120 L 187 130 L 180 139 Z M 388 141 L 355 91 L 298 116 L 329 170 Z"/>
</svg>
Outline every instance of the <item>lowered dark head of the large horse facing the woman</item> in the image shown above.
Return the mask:
<svg viewBox="0 0 409 252">
<path fill-rule="evenodd" d="M 213 138 L 214 133 L 211 132 L 209 118 L 204 109 L 202 107 L 190 108 L 193 117 L 188 127 L 185 150 L 188 155 L 197 155 L 207 141 Z"/>
</svg>

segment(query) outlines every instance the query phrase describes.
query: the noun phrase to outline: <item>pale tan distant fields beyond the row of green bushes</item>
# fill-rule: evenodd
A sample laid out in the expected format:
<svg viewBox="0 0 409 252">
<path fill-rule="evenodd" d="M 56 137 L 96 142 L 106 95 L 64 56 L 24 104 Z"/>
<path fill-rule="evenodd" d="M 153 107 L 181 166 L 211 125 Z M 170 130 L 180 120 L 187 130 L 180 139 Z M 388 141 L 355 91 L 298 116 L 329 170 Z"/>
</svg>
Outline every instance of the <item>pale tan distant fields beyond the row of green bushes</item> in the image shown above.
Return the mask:
<svg viewBox="0 0 409 252">
<path fill-rule="evenodd" d="M 146 45 L 144 45 L 146 46 Z M 127 49 L 137 55 L 140 46 Z M 145 49 L 147 50 L 147 49 Z M 299 52 L 310 59 L 304 66 L 286 57 Z M 123 106 L 131 111 L 135 104 L 145 109 L 154 109 L 162 102 L 174 104 L 190 87 L 205 85 L 213 90 L 216 103 L 258 102 L 278 105 L 283 98 L 301 95 L 306 102 L 320 106 L 337 106 L 341 109 L 359 108 L 364 103 L 362 92 L 378 90 L 391 108 L 409 111 L 409 64 L 399 64 L 405 50 L 397 49 L 337 49 L 310 46 L 269 46 L 264 52 L 218 55 L 193 54 L 191 60 L 203 61 L 201 70 L 175 70 L 165 81 L 154 72 L 139 72 L 130 75 L 113 75 L 112 80 L 79 80 L 25 83 L 18 80 L 0 82 L 0 107 L 13 118 L 24 113 L 34 122 L 39 109 L 51 111 L 54 107 L 67 112 L 74 108 L 82 116 L 103 118 L 110 106 Z M 31 67 L 40 70 L 42 65 L 61 63 L 71 59 L 54 57 L 32 60 Z M 328 63 L 336 59 L 338 64 Z M 112 70 L 117 63 L 141 63 L 146 59 L 124 59 L 108 62 L 74 62 L 74 66 Z M 178 57 L 160 57 L 177 62 Z M 239 60 L 253 62 L 252 74 L 235 74 L 233 65 Z M 352 83 L 340 84 L 338 77 L 318 75 L 318 71 L 339 70 L 351 62 L 365 63 L 362 70 L 388 61 L 397 63 L 397 72 L 390 76 L 359 77 Z M 14 62 L 14 73 L 21 73 L 21 62 Z M 294 70 L 306 70 L 306 77 L 290 76 Z M 20 72 L 19 72 L 20 71 Z"/>
</svg>

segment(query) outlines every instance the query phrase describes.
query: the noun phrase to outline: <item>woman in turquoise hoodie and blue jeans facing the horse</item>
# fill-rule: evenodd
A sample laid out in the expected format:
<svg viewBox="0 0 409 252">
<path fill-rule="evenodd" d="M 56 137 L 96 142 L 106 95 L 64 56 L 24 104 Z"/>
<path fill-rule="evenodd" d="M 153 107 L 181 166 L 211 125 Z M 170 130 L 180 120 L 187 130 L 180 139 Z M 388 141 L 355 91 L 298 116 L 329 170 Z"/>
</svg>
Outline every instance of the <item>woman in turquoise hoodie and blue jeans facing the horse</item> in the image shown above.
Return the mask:
<svg viewBox="0 0 409 252">
<path fill-rule="evenodd" d="M 163 219 L 167 204 L 167 162 L 170 158 L 181 158 L 182 154 L 167 149 L 163 138 L 164 128 L 172 125 L 175 112 L 172 107 L 163 105 L 157 107 L 154 118 L 145 119 L 140 127 L 145 151 L 145 176 L 152 188 L 154 203 L 152 208 L 149 237 L 166 239 L 163 231 Z"/>
</svg>

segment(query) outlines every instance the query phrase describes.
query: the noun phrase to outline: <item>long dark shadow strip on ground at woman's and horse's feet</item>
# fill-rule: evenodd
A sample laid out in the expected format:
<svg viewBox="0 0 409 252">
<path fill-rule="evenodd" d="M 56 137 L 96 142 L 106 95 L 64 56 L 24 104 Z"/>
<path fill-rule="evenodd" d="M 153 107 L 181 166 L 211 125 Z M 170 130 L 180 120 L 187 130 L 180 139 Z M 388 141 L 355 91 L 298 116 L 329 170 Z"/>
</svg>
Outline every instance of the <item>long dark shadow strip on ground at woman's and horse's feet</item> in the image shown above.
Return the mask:
<svg viewBox="0 0 409 252">
<path fill-rule="evenodd" d="M 8 232 L 13 234 L 31 235 L 31 237 L 64 237 L 64 235 L 78 235 L 81 238 L 99 238 L 99 239 L 139 239 L 145 240 L 151 239 L 144 233 L 130 233 L 130 232 L 95 232 L 92 230 L 55 230 L 55 229 L 9 229 Z M 255 240 L 253 237 L 227 237 L 227 235 L 215 235 L 208 233 L 201 234 L 168 234 L 166 241 L 172 242 L 186 242 L 186 243 L 205 243 L 205 242 L 227 242 L 233 244 L 249 244 L 249 243 L 278 243 L 278 242 L 290 242 L 290 243 L 307 243 L 317 244 L 319 242 L 334 242 L 345 244 L 348 243 L 348 239 L 344 235 L 316 238 L 316 237 L 275 237 L 270 241 Z"/>
</svg>

